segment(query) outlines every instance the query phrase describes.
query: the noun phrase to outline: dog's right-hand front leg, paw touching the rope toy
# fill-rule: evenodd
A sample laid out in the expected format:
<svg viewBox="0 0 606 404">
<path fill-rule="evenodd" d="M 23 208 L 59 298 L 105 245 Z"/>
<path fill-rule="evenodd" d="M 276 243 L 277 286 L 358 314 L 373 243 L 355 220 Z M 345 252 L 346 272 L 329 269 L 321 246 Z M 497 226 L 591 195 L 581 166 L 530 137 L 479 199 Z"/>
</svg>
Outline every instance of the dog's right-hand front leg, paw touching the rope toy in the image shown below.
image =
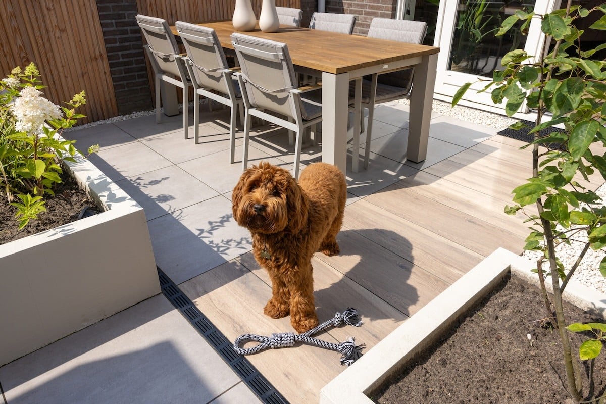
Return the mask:
<svg viewBox="0 0 606 404">
<path fill-rule="evenodd" d="M 299 334 L 318 325 L 311 262 L 308 265 L 298 271 L 299 276 L 290 284 L 290 324 Z"/>
</svg>

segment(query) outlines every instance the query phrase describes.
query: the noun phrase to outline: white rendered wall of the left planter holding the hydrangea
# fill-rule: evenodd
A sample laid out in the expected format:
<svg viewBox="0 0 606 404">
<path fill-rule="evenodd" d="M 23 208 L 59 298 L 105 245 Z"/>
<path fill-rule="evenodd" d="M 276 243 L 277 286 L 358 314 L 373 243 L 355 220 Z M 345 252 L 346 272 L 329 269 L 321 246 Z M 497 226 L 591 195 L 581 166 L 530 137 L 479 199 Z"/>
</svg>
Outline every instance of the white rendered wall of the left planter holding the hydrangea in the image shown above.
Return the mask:
<svg viewBox="0 0 606 404">
<path fill-rule="evenodd" d="M 87 159 L 68 166 L 105 211 L 0 245 L 0 366 L 160 293 L 143 208 Z"/>
</svg>

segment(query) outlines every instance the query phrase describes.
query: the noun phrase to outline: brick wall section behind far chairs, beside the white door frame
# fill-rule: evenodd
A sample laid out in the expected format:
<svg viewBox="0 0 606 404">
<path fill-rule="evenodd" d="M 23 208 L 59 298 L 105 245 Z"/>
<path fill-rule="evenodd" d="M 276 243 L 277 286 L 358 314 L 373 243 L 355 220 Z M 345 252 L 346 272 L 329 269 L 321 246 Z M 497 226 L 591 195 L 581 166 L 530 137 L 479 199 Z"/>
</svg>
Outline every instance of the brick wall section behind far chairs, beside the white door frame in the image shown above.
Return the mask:
<svg viewBox="0 0 606 404">
<path fill-rule="evenodd" d="M 326 0 L 326 12 L 356 15 L 353 33 L 366 35 L 375 17 L 395 18 L 396 0 Z"/>
</svg>

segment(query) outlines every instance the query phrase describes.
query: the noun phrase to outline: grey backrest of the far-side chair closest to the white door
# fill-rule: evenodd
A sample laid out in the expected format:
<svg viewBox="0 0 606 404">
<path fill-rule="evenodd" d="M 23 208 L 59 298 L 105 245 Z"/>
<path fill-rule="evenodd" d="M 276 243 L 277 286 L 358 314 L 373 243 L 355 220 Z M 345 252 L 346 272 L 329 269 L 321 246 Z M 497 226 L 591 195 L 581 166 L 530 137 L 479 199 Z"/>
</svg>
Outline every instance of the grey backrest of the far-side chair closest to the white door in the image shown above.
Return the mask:
<svg viewBox="0 0 606 404">
<path fill-rule="evenodd" d="M 406 19 L 373 18 L 368 28 L 368 37 L 388 39 L 390 41 L 407 42 L 408 44 L 421 44 L 427 34 L 427 23 Z M 393 71 L 379 75 L 378 82 L 407 88 L 410 91 L 415 69 Z"/>
</svg>

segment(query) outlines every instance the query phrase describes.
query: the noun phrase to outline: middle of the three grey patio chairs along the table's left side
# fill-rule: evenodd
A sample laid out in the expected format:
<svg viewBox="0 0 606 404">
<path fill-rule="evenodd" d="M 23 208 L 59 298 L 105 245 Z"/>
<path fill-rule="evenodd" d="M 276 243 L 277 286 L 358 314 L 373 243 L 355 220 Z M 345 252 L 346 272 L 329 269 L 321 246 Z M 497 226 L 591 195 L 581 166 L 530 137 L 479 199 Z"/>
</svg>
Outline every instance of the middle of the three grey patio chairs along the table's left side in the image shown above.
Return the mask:
<svg viewBox="0 0 606 404">
<path fill-rule="evenodd" d="M 183 41 L 187 57 L 185 66 L 194 88 L 193 131 L 195 143 L 199 143 L 200 96 L 210 102 L 217 101 L 231 108 L 230 116 L 230 164 L 235 162 L 236 116 L 244 115 L 244 101 L 235 70 L 227 66 L 225 53 L 215 30 L 188 22 L 175 22 Z"/>
</svg>

